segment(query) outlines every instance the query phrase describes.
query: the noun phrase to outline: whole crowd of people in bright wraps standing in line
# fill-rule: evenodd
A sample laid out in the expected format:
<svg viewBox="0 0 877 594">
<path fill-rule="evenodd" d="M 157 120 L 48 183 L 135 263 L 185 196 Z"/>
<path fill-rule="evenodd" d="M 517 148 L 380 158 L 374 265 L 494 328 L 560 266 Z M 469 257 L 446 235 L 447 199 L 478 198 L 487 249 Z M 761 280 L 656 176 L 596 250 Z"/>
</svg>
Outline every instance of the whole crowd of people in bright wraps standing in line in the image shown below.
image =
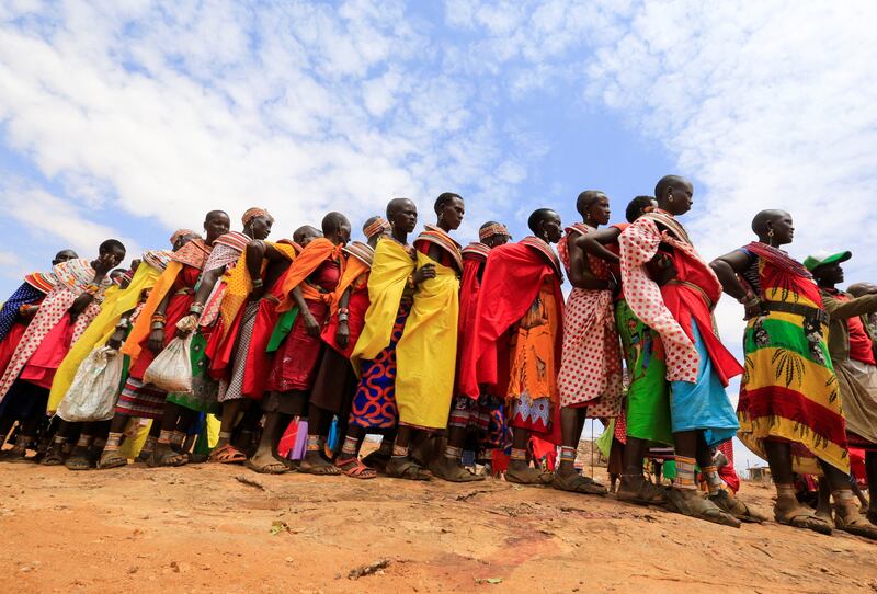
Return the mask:
<svg viewBox="0 0 877 594">
<path fill-rule="evenodd" d="M 624 444 L 620 501 L 761 519 L 715 461 L 738 435 L 770 464 L 777 522 L 877 538 L 877 503 L 859 509 L 850 480 L 850 450 L 864 448 L 877 488 L 877 287 L 836 288 L 848 252 L 789 256 L 782 210 L 707 263 L 680 221 L 692 199 L 669 175 L 607 226 L 608 197 L 586 191 L 580 222 L 539 208 L 532 236 L 512 242 L 488 221 L 465 248 L 452 237 L 464 201 L 444 193 L 417 237 L 417 206 L 396 198 L 364 222 L 365 242 L 340 213 L 269 241 L 271 215 L 250 208 L 239 231 L 213 210 L 203 237 L 180 229 L 128 269 L 116 240 L 91 261 L 65 250 L 0 311 L 3 460 L 468 482 L 483 476 L 465 450 L 506 449 L 508 481 L 602 495 L 574 464 L 585 420 L 600 419 Z M 748 320 L 743 364 L 716 331 L 722 293 Z M 307 427 L 295 462 L 291 423 Z M 380 447 L 361 457 L 369 434 Z M 536 444 L 559 446 L 554 472 L 531 464 Z M 653 446 L 672 448 L 670 488 L 643 475 Z M 819 511 L 799 502 L 804 475 L 821 477 Z"/>
</svg>

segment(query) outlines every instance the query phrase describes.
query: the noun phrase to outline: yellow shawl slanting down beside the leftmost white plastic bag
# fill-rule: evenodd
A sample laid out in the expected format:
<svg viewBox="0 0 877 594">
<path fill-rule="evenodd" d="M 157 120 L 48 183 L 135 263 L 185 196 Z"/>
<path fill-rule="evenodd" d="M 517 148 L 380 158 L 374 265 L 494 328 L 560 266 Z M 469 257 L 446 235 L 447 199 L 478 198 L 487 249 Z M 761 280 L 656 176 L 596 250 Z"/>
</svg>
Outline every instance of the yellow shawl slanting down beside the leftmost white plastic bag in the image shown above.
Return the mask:
<svg viewBox="0 0 877 594">
<path fill-rule="evenodd" d="M 143 262 L 137 267 L 137 272 L 134 273 L 134 278 L 132 278 L 126 289 L 122 290 L 115 286 L 106 289 L 101 306 L 101 312 L 89 324 L 86 331 L 82 332 L 79 340 L 73 343 L 73 346 L 67 353 L 67 356 L 64 357 L 60 367 L 58 367 L 58 370 L 55 373 L 55 379 L 52 381 L 52 391 L 49 392 L 48 404 L 46 407 L 49 414 L 54 413 L 58 404 L 64 400 L 82 361 L 84 361 L 94 349 L 102 346 L 110 340 L 122 315 L 137 307 L 140 300 L 140 294 L 153 287 L 159 276 L 161 276 L 161 271 Z M 119 354 L 118 356 L 122 355 Z"/>
</svg>

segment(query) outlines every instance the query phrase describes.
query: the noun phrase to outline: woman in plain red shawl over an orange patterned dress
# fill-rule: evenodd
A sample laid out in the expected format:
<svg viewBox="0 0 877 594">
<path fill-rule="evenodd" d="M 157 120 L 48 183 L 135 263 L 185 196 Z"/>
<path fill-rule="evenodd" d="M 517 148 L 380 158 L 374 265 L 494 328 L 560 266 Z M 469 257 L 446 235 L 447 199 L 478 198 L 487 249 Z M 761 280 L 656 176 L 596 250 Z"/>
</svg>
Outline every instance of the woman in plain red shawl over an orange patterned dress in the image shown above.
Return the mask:
<svg viewBox="0 0 877 594">
<path fill-rule="evenodd" d="M 513 432 L 505 478 L 538 484 L 549 477 L 527 464 L 531 435 L 560 442 L 557 369 L 563 276 L 550 243 L 562 237 L 562 224 L 549 208 L 534 212 L 527 224 L 532 237 L 494 248 L 488 256 L 472 329 L 475 345 L 460 363 L 460 391 L 477 398 L 481 385 L 503 388 Z"/>
</svg>

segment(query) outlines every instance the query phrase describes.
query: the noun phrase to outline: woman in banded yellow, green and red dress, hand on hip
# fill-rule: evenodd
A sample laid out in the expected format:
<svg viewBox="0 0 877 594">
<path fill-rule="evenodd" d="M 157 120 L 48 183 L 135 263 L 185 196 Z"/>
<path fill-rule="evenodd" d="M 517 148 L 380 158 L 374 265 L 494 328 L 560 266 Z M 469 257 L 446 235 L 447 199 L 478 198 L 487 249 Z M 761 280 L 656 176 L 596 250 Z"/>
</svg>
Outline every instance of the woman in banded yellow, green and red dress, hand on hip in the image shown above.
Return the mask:
<svg viewBox="0 0 877 594">
<path fill-rule="evenodd" d="M 829 318 L 810 272 L 781 245 L 795 227 L 783 210 L 752 220 L 759 240 L 710 264 L 725 292 L 744 308 L 745 375 L 737 414 L 739 437 L 767 459 L 781 524 L 831 533 L 831 525 L 795 498 L 793 472 L 823 472 L 838 502 L 838 527 L 869 538 L 850 488 L 850 458 L 838 378 L 829 358 Z"/>
</svg>

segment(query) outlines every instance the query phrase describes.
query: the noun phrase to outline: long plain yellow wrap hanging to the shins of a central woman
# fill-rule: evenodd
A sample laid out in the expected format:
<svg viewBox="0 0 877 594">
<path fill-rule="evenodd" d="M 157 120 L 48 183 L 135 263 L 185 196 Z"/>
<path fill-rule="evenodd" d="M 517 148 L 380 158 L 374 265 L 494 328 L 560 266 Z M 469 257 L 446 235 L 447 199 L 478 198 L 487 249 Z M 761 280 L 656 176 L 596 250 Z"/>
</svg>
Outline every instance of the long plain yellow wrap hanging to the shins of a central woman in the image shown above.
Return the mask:
<svg viewBox="0 0 877 594">
<path fill-rule="evenodd" d="M 396 346 L 396 404 L 400 423 L 444 429 L 454 396 L 459 279 L 453 269 L 418 252 L 418 267 L 426 264 L 435 266 L 435 278 L 418 287 L 405 333 Z"/>
</svg>

